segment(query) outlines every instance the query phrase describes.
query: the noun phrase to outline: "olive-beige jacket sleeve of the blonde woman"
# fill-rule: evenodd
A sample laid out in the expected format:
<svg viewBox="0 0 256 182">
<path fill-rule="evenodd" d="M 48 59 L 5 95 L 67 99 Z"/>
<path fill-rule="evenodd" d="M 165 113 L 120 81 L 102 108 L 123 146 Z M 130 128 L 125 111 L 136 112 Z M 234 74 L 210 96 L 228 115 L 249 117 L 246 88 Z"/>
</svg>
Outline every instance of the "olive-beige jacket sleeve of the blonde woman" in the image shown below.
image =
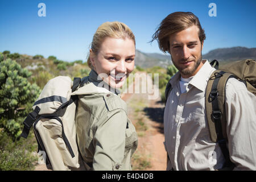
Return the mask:
<svg viewBox="0 0 256 182">
<path fill-rule="evenodd" d="M 125 152 L 127 115 L 122 109 L 109 111 L 94 135 L 93 170 L 121 170 Z"/>
</svg>

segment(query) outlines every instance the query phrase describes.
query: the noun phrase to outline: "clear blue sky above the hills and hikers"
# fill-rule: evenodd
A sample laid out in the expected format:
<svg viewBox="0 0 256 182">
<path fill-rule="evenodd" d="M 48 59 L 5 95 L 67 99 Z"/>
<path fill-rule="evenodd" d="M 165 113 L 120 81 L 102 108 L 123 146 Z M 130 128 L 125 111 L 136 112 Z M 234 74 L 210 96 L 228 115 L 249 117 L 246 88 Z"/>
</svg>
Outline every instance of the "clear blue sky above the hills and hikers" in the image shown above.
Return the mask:
<svg viewBox="0 0 256 182">
<path fill-rule="evenodd" d="M 46 16 L 39 17 L 39 3 Z M 217 16 L 210 17 L 210 3 Z M 136 48 L 162 53 L 151 40 L 158 24 L 175 11 L 191 11 L 199 17 L 207 39 L 203 54 L 215 48 L 256 47 L 256 1 L 67 1 L 0 0 L 0 51 L 60 60 L 86 60 L 97 27 L 107 21 L 126 23 L 134 32 Z"/>
</svg>

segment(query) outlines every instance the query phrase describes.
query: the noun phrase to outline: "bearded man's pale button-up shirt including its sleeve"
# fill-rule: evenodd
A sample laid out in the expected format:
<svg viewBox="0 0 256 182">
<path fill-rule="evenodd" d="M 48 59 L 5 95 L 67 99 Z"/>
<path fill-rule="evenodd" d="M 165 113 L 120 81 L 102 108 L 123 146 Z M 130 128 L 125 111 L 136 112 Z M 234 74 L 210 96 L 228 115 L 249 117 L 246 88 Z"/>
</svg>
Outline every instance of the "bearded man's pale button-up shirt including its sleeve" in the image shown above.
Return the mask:
<svg viewBox="0 0 256 182">
<path fill-rule="evenodd" d="M 180 91 L 180 72 L 172 77 L 172 90 L 164 110 L 164 146 L 167 170 L 214 170 L 224 164 L 217 143 L 210 140 L 205 114 L 205 89 L 215 69 L 206 61 Z M 245 84 L 230 78 L 226 84 L 226 132 L 231 161 L 236 169 L 256 170 L 256 97 Z"/>
</svg>

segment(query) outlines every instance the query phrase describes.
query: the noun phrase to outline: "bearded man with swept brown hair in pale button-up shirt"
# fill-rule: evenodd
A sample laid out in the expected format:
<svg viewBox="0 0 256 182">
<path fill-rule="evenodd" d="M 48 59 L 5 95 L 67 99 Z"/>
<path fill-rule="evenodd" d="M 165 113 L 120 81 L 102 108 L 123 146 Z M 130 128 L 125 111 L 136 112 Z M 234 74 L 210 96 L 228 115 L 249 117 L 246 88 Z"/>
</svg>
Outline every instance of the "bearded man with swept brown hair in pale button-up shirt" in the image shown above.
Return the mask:
<svg viewBox="0 0 256 182">
<path fill-rule="evenodd" d="M 205 89 L 215 70 L 202 60 L 205 33 L 193 13 L 175 12 L 152 36 L 169 52 L 179 70 L 170 80 L 172 90 L 164 110 L 167 170 L 215 170 L 225 158 L 212 142 L 205 111 Z M 256 97 L 245 84 L 230 78 L 226 84 L 227 147 L 234 170 L 256 170 Z"/>
</svg>

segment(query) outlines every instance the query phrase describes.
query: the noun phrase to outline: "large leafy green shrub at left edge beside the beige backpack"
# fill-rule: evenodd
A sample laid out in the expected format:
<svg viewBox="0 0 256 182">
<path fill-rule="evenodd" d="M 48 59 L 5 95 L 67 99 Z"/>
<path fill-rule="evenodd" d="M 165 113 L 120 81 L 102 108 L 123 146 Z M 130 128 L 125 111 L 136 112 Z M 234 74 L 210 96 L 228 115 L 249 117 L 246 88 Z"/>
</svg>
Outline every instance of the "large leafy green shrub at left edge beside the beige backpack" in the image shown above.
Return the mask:
<svg viewBox="0 0 256 182">
<path fill-rule="evenodd" d="M 27 80 L 31 74 L 14 60 L 0 62 L 0 128 L 14 139 L 22 132 L 22 122 L 40 93 L 38 85 Z"/>
</svg>

